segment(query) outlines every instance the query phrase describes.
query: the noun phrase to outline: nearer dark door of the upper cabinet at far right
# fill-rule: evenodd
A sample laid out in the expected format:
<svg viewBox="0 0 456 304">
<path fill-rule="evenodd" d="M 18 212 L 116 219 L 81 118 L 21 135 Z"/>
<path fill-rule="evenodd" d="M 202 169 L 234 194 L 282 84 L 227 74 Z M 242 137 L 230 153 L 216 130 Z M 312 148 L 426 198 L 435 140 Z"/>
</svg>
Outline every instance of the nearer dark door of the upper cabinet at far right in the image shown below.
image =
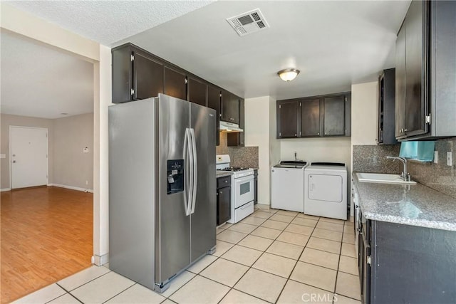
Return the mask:
<svg viewBox="0 0 456 304">
<path fill-rule="evenodd" d="M 405 17 L 405 134 L 418 135 L 427 132 L 425 110 L 425 63 L 424 50 L 425 1 L 412 1 Z"/>
</svg>

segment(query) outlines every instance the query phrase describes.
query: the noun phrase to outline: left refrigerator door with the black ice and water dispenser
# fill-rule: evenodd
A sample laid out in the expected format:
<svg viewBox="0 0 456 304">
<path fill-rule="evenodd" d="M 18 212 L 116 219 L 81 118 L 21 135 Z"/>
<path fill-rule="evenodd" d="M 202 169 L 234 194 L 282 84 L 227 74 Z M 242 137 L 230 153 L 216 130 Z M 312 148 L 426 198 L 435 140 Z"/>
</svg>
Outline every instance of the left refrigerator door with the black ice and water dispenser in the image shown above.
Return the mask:
<svg viewBox="0 0 456 304">
<path fill-rule="evenodd" d="M 159 95 L 159 187 L 156 210 L 155 282 L 166 281 L 190 264 L 190 216 L 186 215 L 189 159 L 186 133 L 189 129 L 190 103 Z M 169 191 L 169 160 L 183 162 L 184 191 Z M 147 232 L 145 231 L 145 234 Z"/>
</svg>

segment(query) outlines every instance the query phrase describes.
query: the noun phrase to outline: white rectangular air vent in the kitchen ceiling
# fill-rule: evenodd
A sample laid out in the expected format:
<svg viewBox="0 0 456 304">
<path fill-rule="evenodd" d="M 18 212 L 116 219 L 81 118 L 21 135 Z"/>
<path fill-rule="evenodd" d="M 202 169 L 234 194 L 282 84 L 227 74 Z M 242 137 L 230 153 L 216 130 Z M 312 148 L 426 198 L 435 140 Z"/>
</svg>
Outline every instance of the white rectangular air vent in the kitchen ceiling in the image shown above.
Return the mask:
<svg viewBox="0 0 456 304">
<path fill-rule="evenodd" d="M 249 33 L 269 28 L 269 24 L 264 20 L 264 16 L 259 9 L 228 18 L 227 21 L 239 36 L 246 36 Z"/>
</svg>

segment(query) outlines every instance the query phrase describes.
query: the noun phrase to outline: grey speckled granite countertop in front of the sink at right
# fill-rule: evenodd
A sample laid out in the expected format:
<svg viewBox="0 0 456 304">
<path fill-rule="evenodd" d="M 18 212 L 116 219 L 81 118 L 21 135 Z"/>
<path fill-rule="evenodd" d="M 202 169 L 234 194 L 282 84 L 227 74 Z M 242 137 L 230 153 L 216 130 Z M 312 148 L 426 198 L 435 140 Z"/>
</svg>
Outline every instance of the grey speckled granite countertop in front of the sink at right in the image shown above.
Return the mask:
<svg viewBox="0 0 456 304">
<path fill-rule="evenodd" d="M 353 181 L 366 219 L 456 231 L 456 199 L 423 184 Z"/>
</svg>

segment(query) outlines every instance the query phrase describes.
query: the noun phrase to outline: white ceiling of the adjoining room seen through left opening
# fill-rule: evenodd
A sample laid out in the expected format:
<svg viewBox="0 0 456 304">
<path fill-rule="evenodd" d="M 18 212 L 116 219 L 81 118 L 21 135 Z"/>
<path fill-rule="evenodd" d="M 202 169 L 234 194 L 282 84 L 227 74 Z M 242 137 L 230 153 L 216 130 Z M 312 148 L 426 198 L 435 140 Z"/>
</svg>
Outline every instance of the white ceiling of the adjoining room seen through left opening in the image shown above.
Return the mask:
<svg viewBox="0 0 456 304">
<path fill-rule="evenodd" d="M 93 63 L 1 31 L 1 113 L 42 118 L 93 112 Z"/>
</svg>

